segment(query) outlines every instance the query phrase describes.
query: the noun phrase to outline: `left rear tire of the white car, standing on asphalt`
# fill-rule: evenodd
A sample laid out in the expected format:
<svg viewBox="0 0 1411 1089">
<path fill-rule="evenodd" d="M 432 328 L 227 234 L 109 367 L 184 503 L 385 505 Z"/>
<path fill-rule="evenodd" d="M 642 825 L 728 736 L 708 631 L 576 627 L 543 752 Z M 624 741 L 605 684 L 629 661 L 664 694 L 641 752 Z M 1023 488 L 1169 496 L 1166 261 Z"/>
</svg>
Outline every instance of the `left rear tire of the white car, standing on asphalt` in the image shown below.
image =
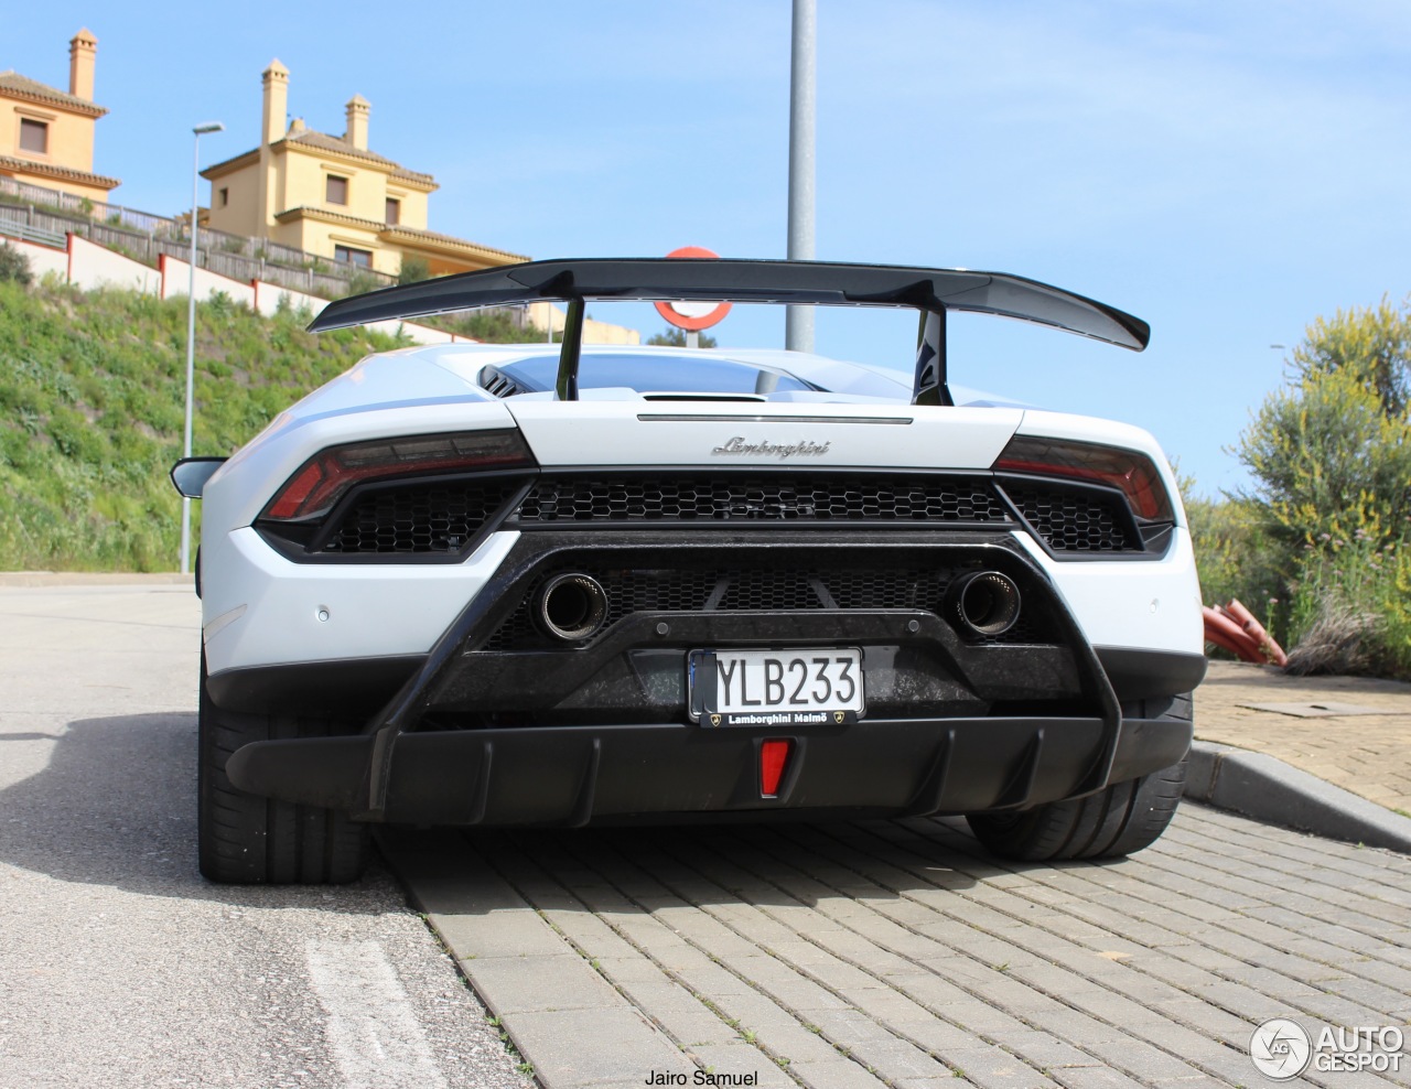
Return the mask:
<svg viewBox="0 0 1411 1089">
<path fill-rule="evenodd" d="M 367 825 L 346 813 L 236 790 L 226 760 L 255 741 L 339 734 L 329 719 L 223 711 L 200 660 L 196 810 L 200 872 L 222 884 L 343 884 L 363 876 Z"/>
</svg>

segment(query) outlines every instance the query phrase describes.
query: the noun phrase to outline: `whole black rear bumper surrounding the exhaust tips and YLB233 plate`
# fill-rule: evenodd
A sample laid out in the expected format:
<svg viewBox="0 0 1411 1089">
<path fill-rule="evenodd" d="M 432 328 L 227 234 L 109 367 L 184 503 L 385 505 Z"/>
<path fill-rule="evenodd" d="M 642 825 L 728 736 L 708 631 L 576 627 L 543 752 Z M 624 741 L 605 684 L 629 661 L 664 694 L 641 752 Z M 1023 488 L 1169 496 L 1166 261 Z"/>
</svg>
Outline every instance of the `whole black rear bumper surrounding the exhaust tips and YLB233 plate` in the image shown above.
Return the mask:
<svg viewBox="0 0 1411 1089">
<path fill-rule="evenodd" d="M 741 585 L 759 573 L 768 576 L 759 585 L 809 583 L 813 576 L 792 574 L 800 564 L 814 566 L 814 581 L 842 581 L 830 584 L 831 597 L 823 592 L 828 608 L 796 602 L 769 611 L 744 597 L 734 609 L 653 602 L 622 612 L 581 646 L 545 649 L 515 635 L 523 631 L 515 626 L 521 602 L 564 566 L 591 570 L 611 592 L 645 570 L 708 590 L 721 563 L 737 563 L 721 556 L 742 557 Z M 938 604 L 944 587 L 926 600 L 873 604 L 890 592 L 892 570 L 976 566 L 1016 580 L 1031 616 L 1026 638 L 965 638 Z M 864 570 L 882 574 L 866 594 L 847 600 L 845 580 Z M 715 592 L 710 601 L 729 598 Z M 686 655 L 728 646 L 862 647 L 866 718 L 810 726 L 690 722 Z M 227 765 L 230 781 L 365 821 L 447 825 L 1022 808 L 1177 763 L 1189 748 L 1191 722 L 1158 717 L 1161 697 L 1195 687 L 1205 660 L 1095 650 L 1047 577 L 1002 535 L 940 542 L 888 535 L 862 549 L 855 540 L 772 535 L 768 546 L 741 549 L 728 535 L 526 533 L 425 659 L 351 666 L 364 687 L 377 688 L 358 714 L 367 722 L 361 734 L 246 745 Z M 291 710 L 299 688 L 327 701 L 341 687 L 344 705 L 357 707 L 350 694 L 360 690 L 334 684 L 334 676 L 322 676 L 326 669 L 217 674 L 209 693 L 223 708 L 272 711 Z M 389 693 L 398 677 L 401 687 Z M 766 797 L 761 745 L 769 739 L 792 748 L 783 780 Z"/>
</svg>

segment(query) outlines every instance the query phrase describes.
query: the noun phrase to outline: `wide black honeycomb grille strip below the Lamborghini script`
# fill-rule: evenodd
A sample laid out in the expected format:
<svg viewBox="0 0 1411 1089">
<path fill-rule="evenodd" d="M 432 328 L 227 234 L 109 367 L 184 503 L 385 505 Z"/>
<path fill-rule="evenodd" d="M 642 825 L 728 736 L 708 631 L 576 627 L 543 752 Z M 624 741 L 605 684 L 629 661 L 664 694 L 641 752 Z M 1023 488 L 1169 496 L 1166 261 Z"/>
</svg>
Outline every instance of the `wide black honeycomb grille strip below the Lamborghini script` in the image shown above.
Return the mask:
<svg viewBox="0 0 1411 1089">
<path fill-rule="evenodd" d="M 952 477 L 615 477 L 539 481 L 521 525 L 564 522 L 1007 522 L 989 481 Z"/>
</svg>

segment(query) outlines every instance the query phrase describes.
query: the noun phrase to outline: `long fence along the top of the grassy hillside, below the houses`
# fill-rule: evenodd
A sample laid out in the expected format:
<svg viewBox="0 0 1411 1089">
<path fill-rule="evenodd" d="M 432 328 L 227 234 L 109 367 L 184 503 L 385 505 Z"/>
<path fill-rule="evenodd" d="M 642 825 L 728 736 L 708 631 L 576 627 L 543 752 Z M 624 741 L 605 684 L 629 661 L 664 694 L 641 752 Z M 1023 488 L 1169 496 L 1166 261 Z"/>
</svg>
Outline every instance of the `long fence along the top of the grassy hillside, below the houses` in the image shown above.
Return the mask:
<svg viewBox="0 0 1411 1089">
<path fill-rule="evenodd" d="M 155 265 L 161 254 L 190 260 L 186 220 L 0 178 L 0 234 L 63 245 L 66 233 L 148 265 Z M 200 229 L 196 240 L 196 265 L 244 284 L 262 279 L 325 298 L 347 295 L 354 279 L 361 281 L 360 286 L 396 282 L 396 276 L 387 272 L 207 227 Z"/>
</svg>

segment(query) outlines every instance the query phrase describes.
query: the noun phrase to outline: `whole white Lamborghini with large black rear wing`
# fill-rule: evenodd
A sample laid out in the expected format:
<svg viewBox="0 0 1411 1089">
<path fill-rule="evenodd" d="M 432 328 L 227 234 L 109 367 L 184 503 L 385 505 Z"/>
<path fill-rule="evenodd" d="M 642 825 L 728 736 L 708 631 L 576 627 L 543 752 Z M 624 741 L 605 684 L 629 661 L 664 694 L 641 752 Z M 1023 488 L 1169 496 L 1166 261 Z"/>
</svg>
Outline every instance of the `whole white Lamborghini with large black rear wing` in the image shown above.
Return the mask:
<svg viewBox="0 0 1411 1089">
<path fill-rule="evenodd" d="M 207 877 L 350 880 L 373 822 L 964 814 L 1020 859 L 1161 835 L 1205 671 L 1171 470 L 1134 427 L 957 403 L 945 355 L 951 312 L 1130 350 L 1143 322 L 991 272 L 591 260 L 312 327 L 545 299 L 562 346 L 373 355 L 174 468 L 205 502 Z M 584 348 L 590 299 L 904 308 L 914 377 Z"/>
</svg>

